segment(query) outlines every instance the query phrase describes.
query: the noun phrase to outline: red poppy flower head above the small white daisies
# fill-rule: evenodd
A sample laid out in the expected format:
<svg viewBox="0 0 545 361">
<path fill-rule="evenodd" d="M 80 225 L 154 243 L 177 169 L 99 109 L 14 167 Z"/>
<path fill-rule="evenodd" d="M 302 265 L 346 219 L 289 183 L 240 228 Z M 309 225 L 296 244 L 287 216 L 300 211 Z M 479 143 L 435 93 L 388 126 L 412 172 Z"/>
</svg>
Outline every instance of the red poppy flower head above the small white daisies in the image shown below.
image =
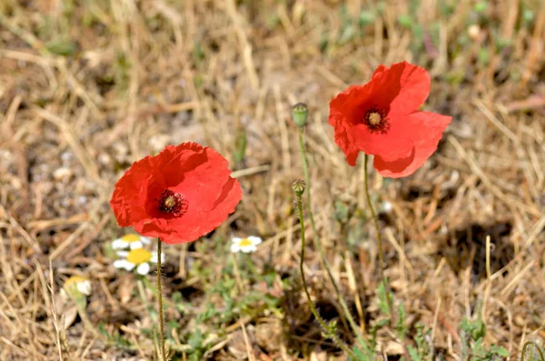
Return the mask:
<svg viewBox="0 0 545 361">
<path fill-rule="evenodd" d="M 117 223 L 165 243 L 198 239 L 222 224 L 243 196 L 227 166 L 217 151 L 193 142 L 135 161 L 110 200 Z"/>
</svg>

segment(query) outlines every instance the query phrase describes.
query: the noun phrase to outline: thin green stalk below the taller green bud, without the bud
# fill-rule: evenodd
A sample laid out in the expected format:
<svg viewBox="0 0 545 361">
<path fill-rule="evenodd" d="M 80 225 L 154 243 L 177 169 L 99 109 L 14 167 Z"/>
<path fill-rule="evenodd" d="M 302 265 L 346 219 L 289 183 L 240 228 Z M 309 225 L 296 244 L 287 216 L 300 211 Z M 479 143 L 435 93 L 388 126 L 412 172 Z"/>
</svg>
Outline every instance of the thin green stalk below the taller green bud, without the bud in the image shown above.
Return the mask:
<svg viewBox="0 0 545 361">
<path fill-rule="evenodd" d="M 342 294 L 341 294 L 341 291 L 339 290 L 339 287 L 337 286 L 337 282 L 335 282 L 335 278 L 333 278 L 332 270 L 329 268 L 329 265 L 327 264 L 325 260 L 325 252 L 323 251 L 323 247 L 322 247 L 322 239 L 318 237 L 318 232 L 316 231 L 316 223 L 314 222 L 314 216 L 312 214 L 311 176 L 309 174 L 309 167 L 306 160 L 306 151 L 304 149 L 304 141 L 302 138 L 302 128 L 297 127 L 297 131 L 299 133 L 299 152 L 301 153 L 302 172 L 304 174 L 304 182 L 306 183 L 306 193 L 307 193 L 307 203 L 308 203 L 307 209 L 309 212 L 309 219 L 311 220 L 312 233 L 314 233 L 314 238 L 316 239 L 316 245 L 318 246 L 318 253 L 320 253 L 320 260 L 322 262 L 322 267 L 325 268 L 329 278 L 332 281 L 333 288 L 335 289 L 335 293 L 337 294 L 337 298 L 339 299 L 339 303 L 341 304 L 341 307 L 342 307 L 342 312 L 348 319 L 348 323 L 352 327 L 352 331 L 356 334 L 358 343 L 361 344 L 361 346 L 364 346 L 362 329 L 358 326 L 358 324 L 356 324 L 356 321 L 352 317 L 352 313 L 348 309 L 348 306 L 346 305 L 344 298 L 342 298 Z"/>
</svg>

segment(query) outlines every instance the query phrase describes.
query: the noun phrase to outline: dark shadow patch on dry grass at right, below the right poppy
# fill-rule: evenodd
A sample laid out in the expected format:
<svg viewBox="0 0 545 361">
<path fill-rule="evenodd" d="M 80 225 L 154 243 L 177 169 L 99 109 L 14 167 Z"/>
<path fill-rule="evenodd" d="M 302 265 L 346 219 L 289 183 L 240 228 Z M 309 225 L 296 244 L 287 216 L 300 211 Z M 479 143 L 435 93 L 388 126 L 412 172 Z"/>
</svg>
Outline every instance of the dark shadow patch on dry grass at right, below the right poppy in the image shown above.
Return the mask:
<svg viewBox="0 0 545 361">
<path fill-rule="evenodd" d="M 439 256 L 447 259 L 451 269 L 459 273 L 471 266 L 471 282 L 486 278 L 486 236 L 490 235 L 490 271 L 505 267 L 514 258 L 514 248 L 509 235 L 510 221 L 490 225 L 473 223 L 464 229 L 457 229 L 441 247 Z"/>
</svg>

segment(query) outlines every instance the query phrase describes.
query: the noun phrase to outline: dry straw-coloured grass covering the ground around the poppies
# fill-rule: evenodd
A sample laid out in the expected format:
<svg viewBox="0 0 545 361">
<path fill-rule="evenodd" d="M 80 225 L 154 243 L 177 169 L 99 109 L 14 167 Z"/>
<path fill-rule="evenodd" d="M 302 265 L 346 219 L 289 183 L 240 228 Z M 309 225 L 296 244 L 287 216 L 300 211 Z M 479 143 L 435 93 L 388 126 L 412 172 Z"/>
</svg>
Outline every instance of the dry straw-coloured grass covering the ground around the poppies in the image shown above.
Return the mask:
<svg viewBox="0 0 545 361">
<path fill-rule="evenodd" d="M 154 337 L 144 330 L 154 325 L 155 298 L 104 253 L 123 233 L 108 200 L 132 161 L 183 141 L 225 155 L 245 194 L 210 239 L 166 248 L 166 298 L 174 291 L 183 298 L 183 307 L 167 312 L 176 359 L 191 356 L 197 329 L 207 337 L 202 358 L 340 355 L 322 341 L 296 272 L 290 185 L 302 170 L 290 107 L 311 109 L 312 209 L 343 293 L 369 328 L 378 317 L 376 235 L 365 216 L 362 166 L 348 167 L 334 144 L 328 102 L 346 84 L 366 82 L 378 64 L 401 60 L 430 70 L 425 107 L 453 117 L 439 151 L 411 178 L 372 178 L 376 201 L 392 205 L 381 227 L 386 274 L 407 309 L 406 342 L 421 322 L 437 355 L 460 359 L 463 317 L 482 317 L 487 345 L 506 347 L 513 359 L 524 341 L 540 342 L 545 7 L 490 0 L 479 14 L 472 0 L 421 0 L 412 15 L 424 30 L 418 37 L 398 20 L 411 14 L 411 3 L 382 2 L 381 14 L 360 26 L 359 14 L 372 14 L 375 2 L 4 0 L 0 359 L 153 358 Z M 444 3 L 455 4 L 451 14 L 441 14 Z M 471 24 L 479 27 L 468 32 Z M 235 165 L 243 133 L 247 151 Z M 348 234 L 333 220 L 335 202 L 358 209 Z M 252 259 L 258 275 L 272 275 L 269 286 L 232 269 L 224 244 L 233 234 L 263 236 Z M 322 314 L 337 318 L 312 245 L 306 267 Z M 257 300 L 225 321 L 203 318 L 208 308 L 227 309 L 211 291 L 233 279 L 225 269 L 234 272 L 235 303 L 261 291 L 278 305 Z M 119 332 L 130 347 L 94 333 L 63 302 L 59 289 L 74 274 L 92 279 L 88 324 Z M 378 339 L 382 355 L 400 355 L 391 329 Z"/>
</svg>

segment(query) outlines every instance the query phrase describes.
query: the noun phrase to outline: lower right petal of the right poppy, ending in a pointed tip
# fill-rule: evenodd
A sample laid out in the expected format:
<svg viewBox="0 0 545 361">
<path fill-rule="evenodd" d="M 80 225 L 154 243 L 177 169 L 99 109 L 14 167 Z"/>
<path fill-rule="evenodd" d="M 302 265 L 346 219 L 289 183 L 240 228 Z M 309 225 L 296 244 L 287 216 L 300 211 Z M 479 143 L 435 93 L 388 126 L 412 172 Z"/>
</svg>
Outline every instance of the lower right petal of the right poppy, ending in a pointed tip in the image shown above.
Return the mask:
<svg viewBox="0 0 545 361">
<path fill-rule="evenodd" d="M 375 156 L 374 168 L 383 177 L 401 178 L 411 175 L 437 150 L 442 133 L 451 119 L 450 116 L 435 112 L 413 112 L 405 122 L 407 135 L 414 143 L 412 156 L 396 161 L 386 161 L 381 156 Z"/>
</svg>

